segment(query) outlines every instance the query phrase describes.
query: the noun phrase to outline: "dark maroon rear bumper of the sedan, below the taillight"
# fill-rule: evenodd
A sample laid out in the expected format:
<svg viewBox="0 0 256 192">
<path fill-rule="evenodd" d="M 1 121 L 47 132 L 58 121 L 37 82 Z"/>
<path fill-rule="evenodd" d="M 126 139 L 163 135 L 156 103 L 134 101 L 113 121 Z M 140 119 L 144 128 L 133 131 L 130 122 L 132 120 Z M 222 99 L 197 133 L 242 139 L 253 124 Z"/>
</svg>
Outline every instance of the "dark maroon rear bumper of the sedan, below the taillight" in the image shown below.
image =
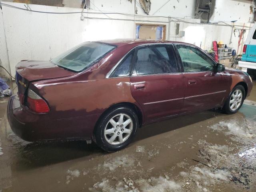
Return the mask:
<svg viewBox="0 0 256 192">
<path fill-rule="evenodd" d="M 7 117 L 13 132 L 26 141 L 54 139 L 90 139 L 100 114 L 50 119 L 20 106 L 17 96 L 8 102 Z"/>
</svg>

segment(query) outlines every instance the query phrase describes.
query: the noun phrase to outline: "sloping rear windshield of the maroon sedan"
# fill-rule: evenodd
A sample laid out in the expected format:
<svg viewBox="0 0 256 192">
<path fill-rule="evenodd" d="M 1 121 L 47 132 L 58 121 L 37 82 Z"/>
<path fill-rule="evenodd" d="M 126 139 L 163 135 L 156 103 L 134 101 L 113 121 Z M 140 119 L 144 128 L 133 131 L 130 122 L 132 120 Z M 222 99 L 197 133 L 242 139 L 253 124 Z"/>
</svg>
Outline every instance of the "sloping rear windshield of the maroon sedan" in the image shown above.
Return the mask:
<svg viewBox="0 0 256 192">
<path fill-rule="evenodd" d="M 85 42 L 50 60 L 59 67 L 80 72 L 102 58 L 116 46 L 100 42 Z"/>
</svg>

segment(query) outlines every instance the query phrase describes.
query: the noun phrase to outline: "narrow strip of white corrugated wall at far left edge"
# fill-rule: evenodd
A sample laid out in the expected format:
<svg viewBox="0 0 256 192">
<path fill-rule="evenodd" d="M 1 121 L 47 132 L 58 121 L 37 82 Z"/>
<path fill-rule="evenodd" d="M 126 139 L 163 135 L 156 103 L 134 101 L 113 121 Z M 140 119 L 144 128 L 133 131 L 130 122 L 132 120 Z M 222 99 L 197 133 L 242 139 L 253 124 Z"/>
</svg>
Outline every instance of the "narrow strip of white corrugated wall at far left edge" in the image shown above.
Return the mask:
<svg viewBox="0 0 256 192">
<path fill-rule="evenodd" d="M 8 57 L 8 50 L 6 44 L 6 37 L 4 32 L 4 20 L 2 15 L 2 10 L 0 9 L 0 66 L 6 68 L 6 70 L 10 73 L 10 63 Z M 4 80 L 10 79 L 9 74 L 0 67 L 0 76 L 4 78 Z"/>
</svg>

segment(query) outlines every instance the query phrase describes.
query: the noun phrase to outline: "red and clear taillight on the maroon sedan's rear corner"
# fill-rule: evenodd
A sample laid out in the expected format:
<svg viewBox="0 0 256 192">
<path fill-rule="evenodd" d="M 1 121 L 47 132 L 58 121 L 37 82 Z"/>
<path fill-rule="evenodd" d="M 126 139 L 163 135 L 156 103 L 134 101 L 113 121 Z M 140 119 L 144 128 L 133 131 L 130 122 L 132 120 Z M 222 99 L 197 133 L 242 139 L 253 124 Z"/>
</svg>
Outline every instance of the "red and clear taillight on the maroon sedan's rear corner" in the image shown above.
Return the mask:
<svg viewBox="0 0 256 192">
<path fill-rule="evenodd" d="M 48 104 L 38 94 L 31 89 L 28 89 L 27 98 L 28 107 L 37 113 L 47 113 L 50 111 Z"/>
</svg>

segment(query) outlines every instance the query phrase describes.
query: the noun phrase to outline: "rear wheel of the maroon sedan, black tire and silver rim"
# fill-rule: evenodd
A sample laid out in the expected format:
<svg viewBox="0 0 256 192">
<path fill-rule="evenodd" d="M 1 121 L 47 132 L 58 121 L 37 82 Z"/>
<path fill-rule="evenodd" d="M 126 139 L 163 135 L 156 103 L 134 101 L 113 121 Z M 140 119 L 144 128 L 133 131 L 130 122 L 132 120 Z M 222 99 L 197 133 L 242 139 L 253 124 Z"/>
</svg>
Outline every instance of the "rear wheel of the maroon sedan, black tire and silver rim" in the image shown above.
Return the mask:
<svg viewBox="0 0 256 192">
<path fill-rule="evenodd" d="M 93 138 L 104 151 L 118 151 L 130 144 L 138 125 L 136 112 L 131 108 L 119 106 L 103 114 L 94 128 Z"/>
</svg>

